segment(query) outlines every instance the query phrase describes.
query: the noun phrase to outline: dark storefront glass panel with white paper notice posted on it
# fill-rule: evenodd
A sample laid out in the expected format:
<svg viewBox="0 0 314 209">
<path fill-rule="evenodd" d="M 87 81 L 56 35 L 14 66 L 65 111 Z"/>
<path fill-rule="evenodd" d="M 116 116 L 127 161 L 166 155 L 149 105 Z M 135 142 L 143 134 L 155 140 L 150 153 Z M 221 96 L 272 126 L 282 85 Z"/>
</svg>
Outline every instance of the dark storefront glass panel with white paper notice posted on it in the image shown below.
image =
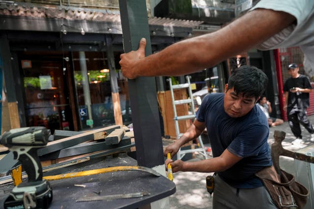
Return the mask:
<svg viewBox="0 0 314 209">
<path fill-rule="evenodd" d="M 45 126 L 52 133 L 55 129 L 72 129 L 62 57 L 38 56 L 25 52 L 21 58 L 27 126 Z"/>
</svg>

